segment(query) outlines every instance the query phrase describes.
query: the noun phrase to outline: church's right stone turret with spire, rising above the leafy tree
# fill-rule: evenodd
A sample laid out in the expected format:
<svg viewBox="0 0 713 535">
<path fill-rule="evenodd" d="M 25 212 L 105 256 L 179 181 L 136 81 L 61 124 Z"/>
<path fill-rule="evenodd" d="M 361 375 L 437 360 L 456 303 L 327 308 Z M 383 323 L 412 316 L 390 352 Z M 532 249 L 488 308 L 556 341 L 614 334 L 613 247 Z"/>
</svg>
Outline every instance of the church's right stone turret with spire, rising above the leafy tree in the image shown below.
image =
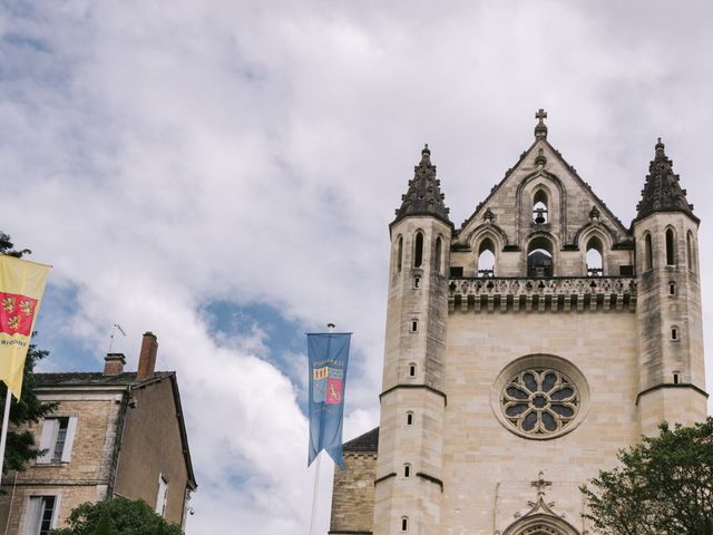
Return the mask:
<svg viewBox="0 0 713 535">
<path fill-rule="evenodd" d="M 641 432 L 706 415 L 699 218 L 658 139 L 634 221 Z"/>
</svg>

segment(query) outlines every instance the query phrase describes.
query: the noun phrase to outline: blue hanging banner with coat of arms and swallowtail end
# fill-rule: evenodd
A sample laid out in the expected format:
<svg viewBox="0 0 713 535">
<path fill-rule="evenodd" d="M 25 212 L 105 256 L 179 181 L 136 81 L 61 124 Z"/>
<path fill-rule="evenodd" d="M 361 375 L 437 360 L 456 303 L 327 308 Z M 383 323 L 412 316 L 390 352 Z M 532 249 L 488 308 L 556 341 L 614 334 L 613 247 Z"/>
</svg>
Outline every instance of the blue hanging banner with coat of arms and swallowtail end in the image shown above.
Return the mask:
<svg viewBox="0 0 713 535">
<path fill-rule="evenodd" d="M 307 333 L 310 357 L 310 458 L 323 449 L 340 467 L 344 385 L 351 333 Z"/>
</svg>

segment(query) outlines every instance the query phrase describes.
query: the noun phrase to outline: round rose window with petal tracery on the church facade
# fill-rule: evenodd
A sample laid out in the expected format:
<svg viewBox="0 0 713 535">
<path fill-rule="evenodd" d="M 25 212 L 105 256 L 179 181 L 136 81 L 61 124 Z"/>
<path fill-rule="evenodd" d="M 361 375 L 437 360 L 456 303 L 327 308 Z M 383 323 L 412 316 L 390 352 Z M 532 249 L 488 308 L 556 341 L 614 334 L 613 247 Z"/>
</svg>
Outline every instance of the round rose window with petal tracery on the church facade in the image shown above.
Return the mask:
<svg viewBox="0 0 713 535">
<path fill-rule="evenodd" d="M 546 436 L 564 431 L 579 410 L 574 381 L 551 369 L 526 369 L 502 388 L 505 419 L 518 431 Z"/>
</svg>

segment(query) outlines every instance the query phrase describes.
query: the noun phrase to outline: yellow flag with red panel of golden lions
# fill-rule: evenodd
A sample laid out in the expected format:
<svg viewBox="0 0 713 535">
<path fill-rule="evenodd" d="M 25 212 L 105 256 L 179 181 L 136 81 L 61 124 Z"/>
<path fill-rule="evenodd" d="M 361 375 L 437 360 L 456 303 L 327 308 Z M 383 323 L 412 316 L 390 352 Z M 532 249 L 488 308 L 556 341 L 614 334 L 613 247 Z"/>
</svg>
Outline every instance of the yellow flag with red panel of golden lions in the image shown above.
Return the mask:
<svg viewBox="0 0 713 535">
<path fill-rule="evenodd" d="M 18 399 L 48 273 L 49 265 L 0 254 L 0 380 Z"/>
</svg>

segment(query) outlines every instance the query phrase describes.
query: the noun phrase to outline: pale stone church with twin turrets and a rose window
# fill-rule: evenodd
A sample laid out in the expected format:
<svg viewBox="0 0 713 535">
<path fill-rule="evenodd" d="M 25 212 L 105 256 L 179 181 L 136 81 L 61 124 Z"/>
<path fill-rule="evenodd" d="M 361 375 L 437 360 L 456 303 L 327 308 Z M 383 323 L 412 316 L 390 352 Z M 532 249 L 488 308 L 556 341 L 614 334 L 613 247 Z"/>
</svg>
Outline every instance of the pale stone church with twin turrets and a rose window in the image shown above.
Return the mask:
<svg viewBox="0 0 713 535">
<path fill-rule="evenodd" d="M 546 117 L 460 228 L 421 152 L 390 225 L 381 421 L 344 445 L 330 534 L 594 534 L 578 487 L 705 418 L 699 218 L 664 144 L 626 227 Z"/>
</svg>

